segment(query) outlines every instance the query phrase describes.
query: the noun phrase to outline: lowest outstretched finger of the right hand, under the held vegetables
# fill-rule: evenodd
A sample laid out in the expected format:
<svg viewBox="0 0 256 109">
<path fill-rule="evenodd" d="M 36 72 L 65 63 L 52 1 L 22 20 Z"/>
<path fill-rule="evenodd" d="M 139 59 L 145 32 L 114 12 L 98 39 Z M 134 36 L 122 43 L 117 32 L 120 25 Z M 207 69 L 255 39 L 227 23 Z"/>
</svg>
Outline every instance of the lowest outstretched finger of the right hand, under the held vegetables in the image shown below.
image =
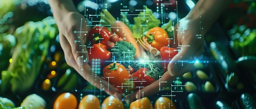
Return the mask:
<svg viewBox="0 0 256 109">
<path fill-rule="evenodd" d="M 162 91 L 165 87 L 171 85 L 171 82 L 175 80 L 178 75 L 171 76 L 168 71 L 165 72 L 159 80 L 153 82 L 152 84 L 144 87 L 136 93 L 136 99 L 143 98 L 144 96 L 152 96 L 157 92 Z"/>
</svg>

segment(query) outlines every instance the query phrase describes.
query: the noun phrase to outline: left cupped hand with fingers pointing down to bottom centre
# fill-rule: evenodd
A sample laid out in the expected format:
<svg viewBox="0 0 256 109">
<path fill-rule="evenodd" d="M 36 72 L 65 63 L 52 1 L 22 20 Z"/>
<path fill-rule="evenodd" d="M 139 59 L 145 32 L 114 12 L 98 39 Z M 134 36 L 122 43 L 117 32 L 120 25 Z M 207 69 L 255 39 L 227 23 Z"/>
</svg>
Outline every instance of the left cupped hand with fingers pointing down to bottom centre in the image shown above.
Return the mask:
<svg viewBox="0 0 256 109">
<path fill-rule="evenodd" d="M 85 17 L 78 12 L 69 12 L 65 17 L 56 21 L 59 29 L 59 39 L 63 49 L 65 60 L 68 65 L 73 67 L 85 80 L 106 93 L 121 99 L 117 88 L 108 85 L 108 82 L 92 72 L 88 65 L 88 52 L 85 41 L 86 35 L 90 30 Z"/>
</svg>

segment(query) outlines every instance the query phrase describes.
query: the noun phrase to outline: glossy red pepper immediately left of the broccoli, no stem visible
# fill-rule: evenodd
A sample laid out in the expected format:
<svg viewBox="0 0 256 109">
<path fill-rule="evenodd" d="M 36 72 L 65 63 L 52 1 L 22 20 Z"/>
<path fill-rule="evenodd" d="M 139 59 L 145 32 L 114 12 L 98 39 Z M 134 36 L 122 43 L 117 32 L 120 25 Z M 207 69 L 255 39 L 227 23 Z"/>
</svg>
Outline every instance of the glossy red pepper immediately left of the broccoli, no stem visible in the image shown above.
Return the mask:
<svg viewBox="0 0 256 109">
<path fill-rule="evenodd" d="M 89 61 L 92 61 L 92 59 L 100 59 L 101 61 L 106 61 L 110 59 L 110 51 L 107 50 L 107 46 L 98 43 L 93 44 L 92 47 L 88 50 L 89 55 Z"/>
</svg>

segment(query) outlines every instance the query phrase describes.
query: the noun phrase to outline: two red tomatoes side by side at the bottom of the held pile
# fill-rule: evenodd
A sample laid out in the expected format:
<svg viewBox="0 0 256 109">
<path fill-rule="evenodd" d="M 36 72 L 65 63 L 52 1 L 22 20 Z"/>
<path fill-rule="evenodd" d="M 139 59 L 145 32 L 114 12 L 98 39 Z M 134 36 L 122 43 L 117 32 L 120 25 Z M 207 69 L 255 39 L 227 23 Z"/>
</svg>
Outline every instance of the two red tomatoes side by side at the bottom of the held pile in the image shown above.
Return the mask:
<svg viewBox="0 0 256 109">
<path fill-rule="evenodd" d="M 130 70 L 121 63 L 113 62 L 103 69 L 103 76 L 110 84 L 117 87 L 120 93 L 129 94 L 132 90 L 146 87 L 155 81 L 147 75 L 147 72 L 149 72 L 147 68 L 140 68 L 130 73 Z"/>
</svg>

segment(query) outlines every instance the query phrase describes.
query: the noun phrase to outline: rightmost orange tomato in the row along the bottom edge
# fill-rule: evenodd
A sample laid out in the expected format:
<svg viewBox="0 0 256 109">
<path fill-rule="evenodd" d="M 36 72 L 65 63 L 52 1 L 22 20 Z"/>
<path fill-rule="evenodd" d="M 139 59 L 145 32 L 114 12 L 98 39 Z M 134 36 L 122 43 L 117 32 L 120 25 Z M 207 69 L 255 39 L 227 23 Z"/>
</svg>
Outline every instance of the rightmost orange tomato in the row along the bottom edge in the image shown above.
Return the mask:
<svg viewBox="0 0 256 109">
<path fill-rule="evenodd" d="M 155 109 L 176 109 L 176 106 L 169 98 L 159 97 L 155 101 Z"/>
</svg>

